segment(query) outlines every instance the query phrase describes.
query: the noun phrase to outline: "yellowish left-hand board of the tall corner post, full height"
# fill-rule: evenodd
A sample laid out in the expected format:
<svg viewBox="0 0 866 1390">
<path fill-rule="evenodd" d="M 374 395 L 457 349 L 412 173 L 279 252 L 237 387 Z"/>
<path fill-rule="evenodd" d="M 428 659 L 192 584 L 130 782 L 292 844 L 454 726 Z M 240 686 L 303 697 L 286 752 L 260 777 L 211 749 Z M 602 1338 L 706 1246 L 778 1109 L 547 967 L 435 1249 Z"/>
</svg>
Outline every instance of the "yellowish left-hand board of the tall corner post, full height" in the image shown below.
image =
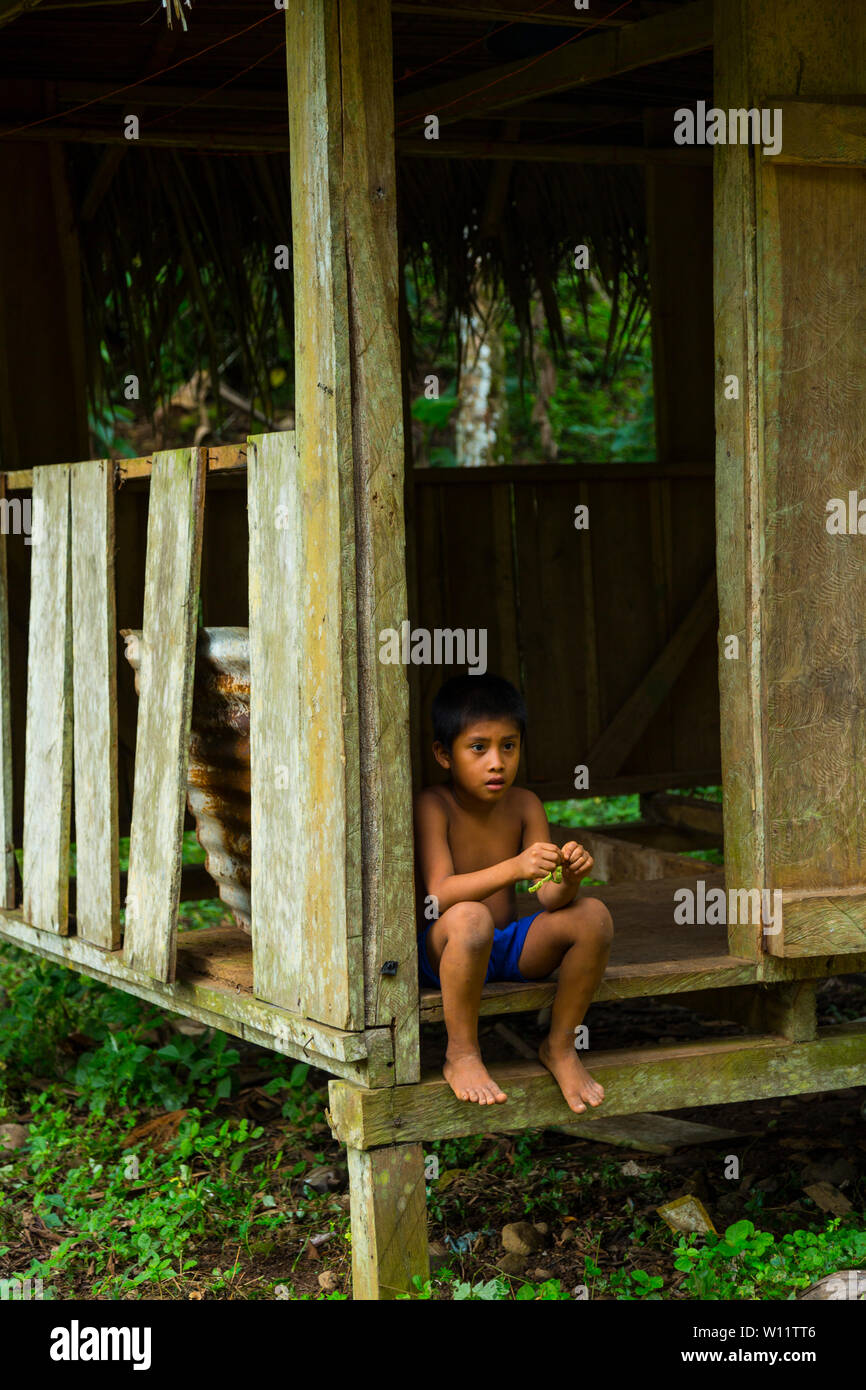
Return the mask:
<svg viewBox="0 0 866 1390">
<path fill-rule="evenodd" d="M 306 599 L 286 617 L 302 649 L 304 771 L 313 796 L 299 808 L 306 855 L 296 887 L 310 913 L 304 1012 L 338 1027 L 363 1027 L 356 517 L 336 4 L 310 0 L 286 10 L 286 61 Z"/>
</svg>

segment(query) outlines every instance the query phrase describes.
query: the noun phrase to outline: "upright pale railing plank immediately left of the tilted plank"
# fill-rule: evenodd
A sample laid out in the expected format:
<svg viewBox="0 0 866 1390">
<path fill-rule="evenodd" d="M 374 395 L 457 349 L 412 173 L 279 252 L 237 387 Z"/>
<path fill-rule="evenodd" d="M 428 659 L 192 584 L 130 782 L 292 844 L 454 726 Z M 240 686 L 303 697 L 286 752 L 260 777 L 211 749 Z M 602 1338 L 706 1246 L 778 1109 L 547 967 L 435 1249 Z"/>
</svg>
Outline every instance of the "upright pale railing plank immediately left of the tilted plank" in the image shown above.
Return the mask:
<svg viewBox="0 0 866 1390">
<path fill-rule="evenodd" d="M 71 466 L 75 930 L 120 945 L 114 466 Z"/>
</svg>

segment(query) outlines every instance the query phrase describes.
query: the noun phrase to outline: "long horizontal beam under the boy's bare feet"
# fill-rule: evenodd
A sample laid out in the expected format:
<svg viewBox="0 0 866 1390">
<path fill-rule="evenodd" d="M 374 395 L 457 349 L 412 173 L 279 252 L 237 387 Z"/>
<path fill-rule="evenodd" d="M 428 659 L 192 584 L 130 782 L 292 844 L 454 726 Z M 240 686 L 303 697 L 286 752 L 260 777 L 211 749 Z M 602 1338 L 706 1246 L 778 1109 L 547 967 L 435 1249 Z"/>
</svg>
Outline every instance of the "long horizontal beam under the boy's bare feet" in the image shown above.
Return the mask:
<svg viewBox="0 0 866 1390">
<path fill-rule="evenodd" d="M 594 1052 L 592 1074 L 605 1087 L 598 1115 L 723 1105 L 808 1091 L 834 1091 L 866 1081 L 866 1024 L 841 1023 L 819 1029 L 815 1041 L 777 1037 L 717 1038 L 677 1047 L 623 1048 Z M 471 1106 L 459 1101 L 438 1074 L 417 1086 L 361 1090 L 331 1081 L 329 1125 L 334 1136 L 354 1148 L 464 1134 L 506 1134 L 569 1123 L 592 1126 L 594 1116 L 574 1119 L 556 1081 L 534 1062 L 492 1066 L 507 1101 Z"/>
</svg>

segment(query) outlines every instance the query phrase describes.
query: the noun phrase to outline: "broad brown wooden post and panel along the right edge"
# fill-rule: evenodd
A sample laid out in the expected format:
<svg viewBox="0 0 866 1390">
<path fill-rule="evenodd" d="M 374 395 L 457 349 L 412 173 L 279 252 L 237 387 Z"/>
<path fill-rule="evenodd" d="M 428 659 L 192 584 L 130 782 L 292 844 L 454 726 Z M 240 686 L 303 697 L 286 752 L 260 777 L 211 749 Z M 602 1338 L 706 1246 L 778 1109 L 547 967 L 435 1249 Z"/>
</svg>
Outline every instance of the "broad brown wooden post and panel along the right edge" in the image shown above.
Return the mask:
<svg viewBox="0 0 866 1390">
<path fill-rule="evenodd" d="M 866 95 L 865 44 L 858 0 L 716 6 L 714 101 L 831 110 Z M 848 510 L 863 489 L 866 160 L 838 163 L 837 135 L 812 125 L 798 163 L 784 122 L 777 154 L 714 150 L 726 869 L 728 887 L 783 899 L 781 930 L 731 926 L 741 956 L 866 940 L 866 539 L 827 525 L 831 499 Z"/>
</svg>

